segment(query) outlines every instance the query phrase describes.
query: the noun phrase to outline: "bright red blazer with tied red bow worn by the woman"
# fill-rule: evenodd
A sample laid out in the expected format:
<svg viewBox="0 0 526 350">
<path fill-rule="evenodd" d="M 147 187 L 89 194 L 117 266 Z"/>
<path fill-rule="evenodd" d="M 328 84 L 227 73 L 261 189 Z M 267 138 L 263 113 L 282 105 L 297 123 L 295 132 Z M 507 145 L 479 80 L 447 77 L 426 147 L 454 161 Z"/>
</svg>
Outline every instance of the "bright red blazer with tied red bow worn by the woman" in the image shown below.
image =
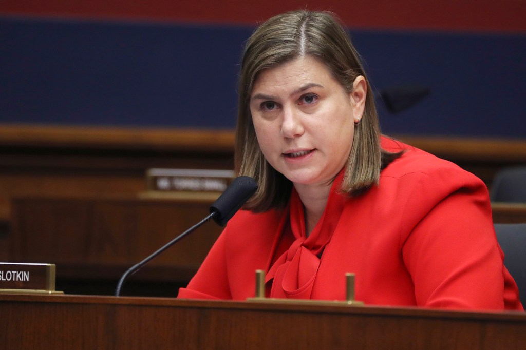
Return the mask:
<svg viewBox="0 0 526 350">
<path fill-rule="evenodd" d="M 309 238 L 294 190 L 284 210 L 239 211 L 178 297 L 245 300 L 260 269 L 269 296 L 345 300 L 353 272 L 369 305 L 523 310 L 484 183 L 401 142 L 382 147 L 406 152 L 357 198 L 338 194 L 340 174 Z"/>
</svg>

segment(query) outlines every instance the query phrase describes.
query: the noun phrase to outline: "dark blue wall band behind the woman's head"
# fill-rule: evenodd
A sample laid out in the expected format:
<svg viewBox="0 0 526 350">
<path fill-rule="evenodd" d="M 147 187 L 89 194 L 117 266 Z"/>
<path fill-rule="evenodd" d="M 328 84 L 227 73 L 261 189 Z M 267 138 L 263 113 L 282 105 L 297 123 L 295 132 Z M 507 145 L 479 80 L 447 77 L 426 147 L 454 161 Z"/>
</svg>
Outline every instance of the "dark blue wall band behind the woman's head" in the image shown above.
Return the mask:
<svg viewBox="0 0 526 350">
<path fill-rule="evenodd" d="M 242 25 L 0 17 L 0 122 L 234 128 Z M 386 133 L 526 138 L 526 35 L 351 30 Z"/>
</svg>

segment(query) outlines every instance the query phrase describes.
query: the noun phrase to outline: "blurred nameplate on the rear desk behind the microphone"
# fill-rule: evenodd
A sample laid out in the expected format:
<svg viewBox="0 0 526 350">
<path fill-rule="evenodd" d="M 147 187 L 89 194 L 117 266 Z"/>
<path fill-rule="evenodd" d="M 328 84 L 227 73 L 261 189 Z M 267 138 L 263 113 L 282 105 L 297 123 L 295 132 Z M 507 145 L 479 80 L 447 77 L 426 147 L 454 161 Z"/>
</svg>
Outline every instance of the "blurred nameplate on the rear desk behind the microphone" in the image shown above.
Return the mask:
<svg viewBox="0 0 526 350">
<path fill-rule="evenodd" d="M 148 191 L 223 192 L 232 182 L 234 171 L 207 169 L 148 169 Z"/>
</svg>

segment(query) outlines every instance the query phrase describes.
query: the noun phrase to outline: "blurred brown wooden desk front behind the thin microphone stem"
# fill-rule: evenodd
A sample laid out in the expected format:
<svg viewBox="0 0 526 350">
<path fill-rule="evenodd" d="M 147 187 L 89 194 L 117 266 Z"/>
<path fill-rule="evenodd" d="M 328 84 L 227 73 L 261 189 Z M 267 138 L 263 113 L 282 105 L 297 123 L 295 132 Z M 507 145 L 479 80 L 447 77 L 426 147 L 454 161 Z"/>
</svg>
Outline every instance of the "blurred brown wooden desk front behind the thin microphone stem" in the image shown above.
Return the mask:
<svg viewBox="0 0 526 350">
<path fill-rule="evenodd" d="M 217 198 L 16 198 L 14 262 L 51 262 L 57 280 L 113 279 L 209 213 Z M 134 278 L 188 282 L 222 228 L 205 223 L 157 256 Z"/>
</svg>

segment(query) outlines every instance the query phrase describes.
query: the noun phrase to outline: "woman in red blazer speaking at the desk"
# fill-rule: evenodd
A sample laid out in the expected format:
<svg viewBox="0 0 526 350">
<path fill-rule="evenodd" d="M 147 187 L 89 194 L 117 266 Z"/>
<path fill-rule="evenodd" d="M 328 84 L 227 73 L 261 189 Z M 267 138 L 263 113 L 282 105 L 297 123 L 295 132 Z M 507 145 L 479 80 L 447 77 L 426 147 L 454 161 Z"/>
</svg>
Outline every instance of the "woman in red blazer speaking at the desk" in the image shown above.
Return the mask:
<svg viewBox="0 0 526 350">
<path fill-rule="evenodd" d="M 329 13 L 296 11 L 247 42 L 236 172 L 259 189 L 181 298 L 266 294 L 366 304 L 523 310 L 481 180 L 380 137 L 359 55 Z"/>
</svg>

